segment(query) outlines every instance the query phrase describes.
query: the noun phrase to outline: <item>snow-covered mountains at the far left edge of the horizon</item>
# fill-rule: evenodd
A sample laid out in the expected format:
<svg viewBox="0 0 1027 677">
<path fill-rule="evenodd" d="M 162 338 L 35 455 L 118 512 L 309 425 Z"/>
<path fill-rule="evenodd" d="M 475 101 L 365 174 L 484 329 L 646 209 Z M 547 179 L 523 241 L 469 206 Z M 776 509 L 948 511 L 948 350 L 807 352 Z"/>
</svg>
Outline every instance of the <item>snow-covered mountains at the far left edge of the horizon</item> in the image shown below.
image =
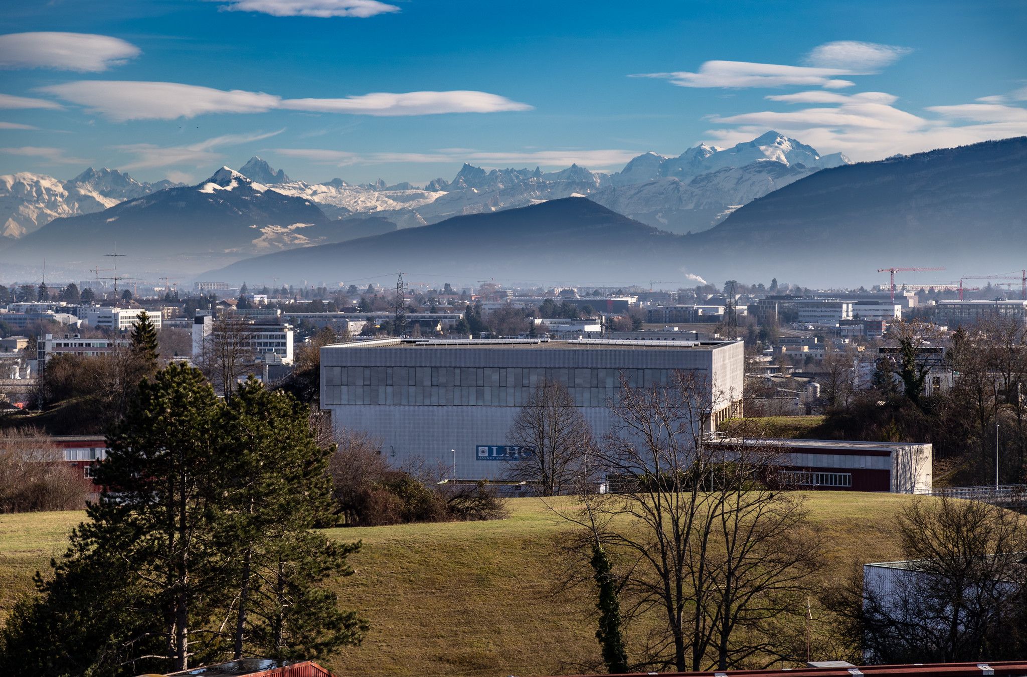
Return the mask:
<svg viewBox="0 0 1027 677">
<path fill-rule="evenodd" d="M 29 172 L 9 174 L 0 177 L 0 235 L 17 239 L 53 219 L 102 212 L 123 200 L 181 185 L 139 183 L 117 170 L 92 167 L 68 181 Z"/>
</svg>

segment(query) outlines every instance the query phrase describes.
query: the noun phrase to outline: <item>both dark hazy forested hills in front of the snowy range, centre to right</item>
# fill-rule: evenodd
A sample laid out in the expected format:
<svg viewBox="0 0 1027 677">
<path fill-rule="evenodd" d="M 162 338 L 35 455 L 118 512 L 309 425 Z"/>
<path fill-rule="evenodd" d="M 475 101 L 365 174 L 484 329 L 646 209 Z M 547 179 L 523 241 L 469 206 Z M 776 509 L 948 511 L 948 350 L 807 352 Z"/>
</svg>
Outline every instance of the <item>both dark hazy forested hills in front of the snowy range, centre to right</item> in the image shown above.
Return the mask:
<svg viewBox="0 0 1027 677">
<path fill-rule="evenodd" d="M 269 254 L 204 274 L 259 279 L 273 270 L 335 284 L 398 269 L 415 278 L 457 271 L 543 285 L 618 285 L 641 281 L 642 273 L 684 286 L 693 275 L 717 283 L 790 275 L 838 285 L 864 284 L 878 268 L 921 266 L 946 271 L 919 281 L 948 281 L 975 268 L 1027 265 L 1025 188 L 1027 137 L 1021 137 L 816 172 L 700 233 L 667 232 L 568 197 Z"/>
</svg>

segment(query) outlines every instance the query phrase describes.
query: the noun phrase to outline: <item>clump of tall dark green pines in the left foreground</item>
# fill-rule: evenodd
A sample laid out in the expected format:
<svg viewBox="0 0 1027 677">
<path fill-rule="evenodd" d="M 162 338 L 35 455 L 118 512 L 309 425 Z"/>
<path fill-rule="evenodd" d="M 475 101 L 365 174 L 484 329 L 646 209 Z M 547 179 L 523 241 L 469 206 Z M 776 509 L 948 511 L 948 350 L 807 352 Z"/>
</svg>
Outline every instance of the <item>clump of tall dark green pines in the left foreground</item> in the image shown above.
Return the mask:
<svg viewBox="0 0 1027 677">
<path fill-rule="evenodd" d="M 0 630 L 5 677 L 122 677 L 232 656 L 317 657 L 368 630 L 324 582 L 349 575 L 306 408 L 250 379 L 225 404 L 172 365 L 140 384 L 98 481 L 116 488 Z"/>
</svg>

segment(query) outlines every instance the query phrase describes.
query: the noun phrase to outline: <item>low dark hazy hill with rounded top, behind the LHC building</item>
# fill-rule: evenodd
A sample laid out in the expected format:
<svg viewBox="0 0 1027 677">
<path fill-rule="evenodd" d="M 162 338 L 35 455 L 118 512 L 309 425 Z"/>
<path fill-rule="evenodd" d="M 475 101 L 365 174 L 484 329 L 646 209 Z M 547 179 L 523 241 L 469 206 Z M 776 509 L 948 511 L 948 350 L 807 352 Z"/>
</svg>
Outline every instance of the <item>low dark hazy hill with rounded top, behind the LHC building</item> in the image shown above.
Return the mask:
<svg viewBox="0 0 1027 677">
<path fill-rule="evenodd" d="M 239 261 L 204 273 L 219 279 L 283 278 L 336 281 L 390 270 L 418 275 L 502 276 L 519 280 L 609 279 L 627 268 L 680 266 L 670 256 L 683 237 L 633 221 L 583 197 L 568 197 L 491 214 L 454 217 L 336 245 Z M 621 272 L 623 271 L 623 272 Z M 261 273 L 263 274 L 263 273 Z"/>
</svg>

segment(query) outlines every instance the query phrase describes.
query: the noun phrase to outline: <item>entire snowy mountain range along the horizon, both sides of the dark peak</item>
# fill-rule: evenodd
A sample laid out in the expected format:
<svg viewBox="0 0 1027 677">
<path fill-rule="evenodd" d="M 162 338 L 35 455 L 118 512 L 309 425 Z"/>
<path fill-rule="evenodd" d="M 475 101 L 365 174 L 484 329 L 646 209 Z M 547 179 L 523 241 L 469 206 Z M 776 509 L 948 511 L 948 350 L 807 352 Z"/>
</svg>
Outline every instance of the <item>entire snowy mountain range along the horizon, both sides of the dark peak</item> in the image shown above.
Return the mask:
<svg viewBox="0 0 1027 677">
<path fill-rule="evenodd" d="M 381 180 L 360 185 L 341 179 L 309 184 L 291 179 L 256 156 L 238 172 L 256 184 L 316 203 L 329 219 L 374 216 L 398 228 L 411 228 L 453 216 L 585 195 L 649 225 L 683 233 L 706 230 L 755 197 L 847 161 L 839 153 L 822 157 L 809 146 L 769 131 L 732 148 L 701 144 L 678 157 L 645 153 L 612 176 L 576 164 L 549 173 L 538 167 L 487 172 L 464 164 L 453 181 L 435 179 L 423 189 L 408 182 L 388 186 Z M 117 170 L 91 167 L 68 181 L 29 173 L 3 176 L 0 247 L 53 219 L 94 214 L 127 199 L 183 186 L 169 181 L 139 183 Z M 244 249 L 244 243 L 235 247 Z"/>
</svg>

